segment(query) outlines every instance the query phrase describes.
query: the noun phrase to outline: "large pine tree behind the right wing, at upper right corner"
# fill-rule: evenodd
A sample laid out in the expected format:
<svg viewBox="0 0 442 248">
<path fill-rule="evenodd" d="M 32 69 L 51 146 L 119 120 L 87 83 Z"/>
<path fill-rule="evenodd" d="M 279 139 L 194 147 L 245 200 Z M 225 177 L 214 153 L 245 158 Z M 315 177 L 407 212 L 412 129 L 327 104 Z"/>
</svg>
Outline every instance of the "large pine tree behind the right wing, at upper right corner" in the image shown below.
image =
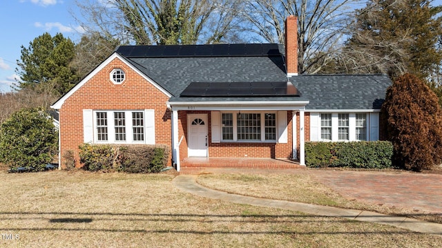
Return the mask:
<svg viewBox="0 0 442 248">
<path fill-rule="evenodd" d="M 421 79 L 442 59 L 436 48 L 442 33 L 440 8 L 430 0 L 372 0 L 358 10 L 356 27 L 344 50 L 345 70 L 412 73 Z"/>
</svg>

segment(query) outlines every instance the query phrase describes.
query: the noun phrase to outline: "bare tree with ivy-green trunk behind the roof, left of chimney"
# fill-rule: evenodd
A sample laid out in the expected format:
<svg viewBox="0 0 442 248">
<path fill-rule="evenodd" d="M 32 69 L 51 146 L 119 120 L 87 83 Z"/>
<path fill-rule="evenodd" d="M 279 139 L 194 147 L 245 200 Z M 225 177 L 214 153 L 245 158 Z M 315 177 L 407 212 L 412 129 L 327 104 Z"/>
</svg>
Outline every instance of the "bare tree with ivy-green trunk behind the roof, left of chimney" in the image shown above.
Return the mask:
<svg viewBox="0 0 442 248">
<path fill-rule="evenodd" d="M 239 0 L 77 0 L 89 32 L 122 43 L 213 44 L 238 27 Z"/>
</svg>

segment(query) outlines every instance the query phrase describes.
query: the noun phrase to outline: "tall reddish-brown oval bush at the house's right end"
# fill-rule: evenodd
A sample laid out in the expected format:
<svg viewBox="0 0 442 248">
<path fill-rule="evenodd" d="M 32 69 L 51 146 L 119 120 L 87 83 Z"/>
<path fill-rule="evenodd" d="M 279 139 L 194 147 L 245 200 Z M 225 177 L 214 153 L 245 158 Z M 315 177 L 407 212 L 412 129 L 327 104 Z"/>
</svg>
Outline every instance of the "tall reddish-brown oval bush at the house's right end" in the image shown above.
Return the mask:
<svg viewBox="0 0 442 248">
<path fill-rule="evenodd" d="M 387 89 L 384 125 L 394 147 L 394 163 L 421 171 L 442 161 L 439 99 L 421 79 L 405 74 Z"/>
</svg>

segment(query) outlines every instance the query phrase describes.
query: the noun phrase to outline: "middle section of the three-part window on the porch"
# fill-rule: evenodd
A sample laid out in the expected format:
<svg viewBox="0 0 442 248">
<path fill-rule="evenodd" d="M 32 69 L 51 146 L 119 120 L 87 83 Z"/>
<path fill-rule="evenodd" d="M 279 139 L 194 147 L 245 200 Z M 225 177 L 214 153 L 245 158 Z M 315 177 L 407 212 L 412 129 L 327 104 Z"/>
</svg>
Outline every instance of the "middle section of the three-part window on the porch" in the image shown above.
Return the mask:
<svg viewBox="0 0 442 248">
<path fill-rule="evenodd" d="M 238 113 L 236 122 L 238 140 L 261 140 L 260 113 Z"/>
</svg>

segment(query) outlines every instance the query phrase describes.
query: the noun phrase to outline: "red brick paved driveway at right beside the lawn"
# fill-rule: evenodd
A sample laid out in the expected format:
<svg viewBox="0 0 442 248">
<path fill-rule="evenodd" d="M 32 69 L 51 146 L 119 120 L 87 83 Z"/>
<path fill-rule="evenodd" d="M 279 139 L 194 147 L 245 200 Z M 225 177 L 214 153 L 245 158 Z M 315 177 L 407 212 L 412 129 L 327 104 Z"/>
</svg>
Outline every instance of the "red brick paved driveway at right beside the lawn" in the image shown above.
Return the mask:
<svg viewBox="0 0 442 248">
<path fill-rule="evenodd" d="M 379 171 L 305 171 L 345 198 L 442 213 L 442 175 Z"/>
</svg>

